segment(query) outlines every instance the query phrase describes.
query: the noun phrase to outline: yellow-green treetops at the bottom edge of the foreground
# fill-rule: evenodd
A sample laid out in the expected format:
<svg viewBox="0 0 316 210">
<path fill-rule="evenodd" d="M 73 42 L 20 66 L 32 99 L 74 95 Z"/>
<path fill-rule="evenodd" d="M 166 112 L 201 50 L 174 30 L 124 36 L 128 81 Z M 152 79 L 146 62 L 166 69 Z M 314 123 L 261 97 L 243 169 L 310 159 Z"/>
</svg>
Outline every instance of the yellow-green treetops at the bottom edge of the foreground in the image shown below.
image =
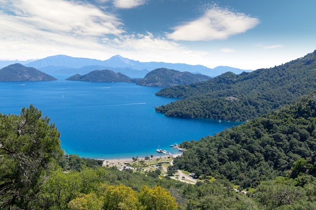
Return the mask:
<svg viewBox="0 0 316 210">
<path fill-rule="evenodd" d="M 137 193 L 131 187 L 123 184 L 100 183 L 96 192 L 79 194 L 68 203 L 68 208 L 71 210 L 176 210 L 178 205 L 171 193 L 160 186 L 153 188 L 143 186 L 142 190 Z"/>
</svg>

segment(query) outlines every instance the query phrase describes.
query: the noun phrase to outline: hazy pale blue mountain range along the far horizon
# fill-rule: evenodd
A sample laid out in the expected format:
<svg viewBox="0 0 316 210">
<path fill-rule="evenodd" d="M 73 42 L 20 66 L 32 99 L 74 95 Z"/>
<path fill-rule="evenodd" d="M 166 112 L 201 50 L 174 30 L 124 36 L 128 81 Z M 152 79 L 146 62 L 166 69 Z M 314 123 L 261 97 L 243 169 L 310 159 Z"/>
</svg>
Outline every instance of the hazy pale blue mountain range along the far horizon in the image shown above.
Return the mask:
<svg viewBox="0 0 316 210">
<path fill-rule="evenodd" d="M 229 66 L 218 66 L 208 68 L 203 65 L 189 65 L 185 63 L 165 63 L 165 62 L 140 62 L 115 55 L 108 60 L 97 60 L 90 58 L 78 58 L 67 55 L 55 55 L 38 59 L 29 63 L 26 61 L 14 61 L 24 63 L 25 66 L 35 67 L 46 74 L 87 74 L 94 70 L 110 69 L 116 73 L 122 73 L 131 78 L 143 78 L 148 72 L 156 68 L 175 69 L 180 72 L 190 72 L 193 74 L 203 74 L 215 77 L 226 72 L 241 74 L 242 72 L 252 72 Z M 9 61 L 0 61 L 0 67 L 6 66 Z"/>
</svg>

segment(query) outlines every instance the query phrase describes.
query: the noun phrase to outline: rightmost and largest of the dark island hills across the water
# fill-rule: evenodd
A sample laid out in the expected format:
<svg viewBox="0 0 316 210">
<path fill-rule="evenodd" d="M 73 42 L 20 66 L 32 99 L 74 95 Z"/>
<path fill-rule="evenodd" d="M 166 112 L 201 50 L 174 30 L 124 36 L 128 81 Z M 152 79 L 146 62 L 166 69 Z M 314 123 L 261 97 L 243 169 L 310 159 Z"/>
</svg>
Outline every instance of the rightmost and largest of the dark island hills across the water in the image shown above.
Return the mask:
<svg viewBox="0 0 316 210">
<path fill-rule="evenodd" d="M 179 72 L 168 68 L 157 68 L 149 72 L 144 79 L 139 80 L 136 85 L 167 87 L 197 83 L 209 79 L 210 77 L 205 75 Z"/>
</svg>

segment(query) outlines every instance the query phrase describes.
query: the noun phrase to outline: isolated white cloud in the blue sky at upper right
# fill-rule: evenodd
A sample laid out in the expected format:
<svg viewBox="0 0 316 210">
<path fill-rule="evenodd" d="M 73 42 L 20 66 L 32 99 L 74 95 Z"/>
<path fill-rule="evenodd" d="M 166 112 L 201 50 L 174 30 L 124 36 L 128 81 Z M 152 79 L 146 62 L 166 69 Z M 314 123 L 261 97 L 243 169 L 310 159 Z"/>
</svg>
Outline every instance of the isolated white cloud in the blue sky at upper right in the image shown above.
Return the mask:
<svg viewBox="0 0 316 210">
<path fill-rule="evenodd" d="M 259 24 L 257 18 L 213 6 L 199 19 L 174 27 L 175 31 L 166 35 L 173 40 L 185 41 L 227 39 L 244 33 L 257 24 Z"/>
</svg>

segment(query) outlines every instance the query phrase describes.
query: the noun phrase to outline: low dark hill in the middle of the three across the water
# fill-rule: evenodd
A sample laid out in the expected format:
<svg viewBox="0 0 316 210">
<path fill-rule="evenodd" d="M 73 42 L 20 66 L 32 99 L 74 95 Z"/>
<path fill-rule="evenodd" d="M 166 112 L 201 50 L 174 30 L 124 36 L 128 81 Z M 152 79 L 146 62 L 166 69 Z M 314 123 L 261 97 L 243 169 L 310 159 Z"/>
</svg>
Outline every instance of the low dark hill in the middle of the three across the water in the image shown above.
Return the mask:
<svg viewBox="0 0 316 210">
<path fill-rule="evenodd" d="M 86 75 L 74 75 L 66 80 L 87 81 L 87 82 L 125 82 L 134 83 L 135 81 L 121 73 L 111 70 L 95 70 Z"/>
</svg>

